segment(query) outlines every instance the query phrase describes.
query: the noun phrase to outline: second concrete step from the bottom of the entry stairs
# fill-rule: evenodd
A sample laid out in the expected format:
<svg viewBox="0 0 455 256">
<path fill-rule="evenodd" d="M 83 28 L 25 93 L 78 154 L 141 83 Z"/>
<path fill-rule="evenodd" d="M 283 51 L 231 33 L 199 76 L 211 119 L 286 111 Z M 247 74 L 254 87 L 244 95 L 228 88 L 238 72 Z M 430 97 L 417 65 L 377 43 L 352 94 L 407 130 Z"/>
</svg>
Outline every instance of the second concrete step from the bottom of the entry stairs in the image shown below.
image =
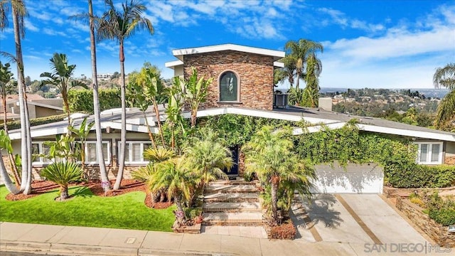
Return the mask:
<svg viewBox="0 0 455 256">
<path fill-rule="evenodd" d="M 262 213 L 262 209 L 259 202 L 210 202 L 203 203 L 204 213 Z"/>
</svg>

